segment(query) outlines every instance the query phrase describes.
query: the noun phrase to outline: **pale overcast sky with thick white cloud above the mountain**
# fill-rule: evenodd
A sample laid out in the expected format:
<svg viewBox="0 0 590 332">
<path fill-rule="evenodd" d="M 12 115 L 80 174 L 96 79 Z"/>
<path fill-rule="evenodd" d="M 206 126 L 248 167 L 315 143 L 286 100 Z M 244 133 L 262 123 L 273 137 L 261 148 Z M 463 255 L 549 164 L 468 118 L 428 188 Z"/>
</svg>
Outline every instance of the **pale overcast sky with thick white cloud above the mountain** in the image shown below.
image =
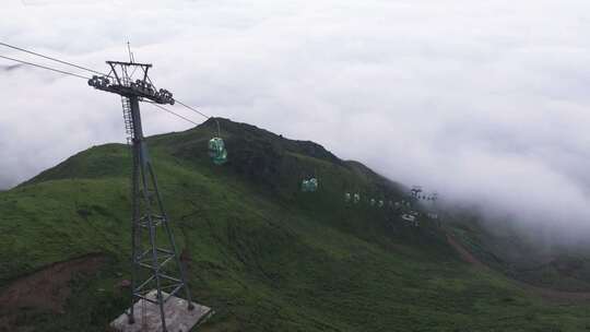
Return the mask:
<svg viewBox="0 0 590 332">
<path fill-rule="evenodd" d="M 154 83 L 208 114 L 527 225 L 590 230 L 587 0 L 8 0 L 1 11 L 1 42 L 105 70 L 130 40 Z M 125 140 L 117 96 L 12 64 L 0 59 L 0 187 Z M 149 134 L 190 127 L 143 110 Z"/>
</svg>

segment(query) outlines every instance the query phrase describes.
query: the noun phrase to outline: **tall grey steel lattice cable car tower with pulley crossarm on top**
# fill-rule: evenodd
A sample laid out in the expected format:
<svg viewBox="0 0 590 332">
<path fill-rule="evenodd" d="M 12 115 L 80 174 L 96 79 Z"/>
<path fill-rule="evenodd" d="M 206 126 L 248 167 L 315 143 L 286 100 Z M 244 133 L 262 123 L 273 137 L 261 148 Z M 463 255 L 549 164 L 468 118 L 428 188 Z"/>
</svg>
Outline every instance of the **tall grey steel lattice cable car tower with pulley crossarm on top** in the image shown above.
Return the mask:
<svg viewBox="0 0 590 332">
<path fill-rule="evenodd" d="M 162 204 L 153 164 L 148 154 L 143 137 L 139 102 L 150 100 L 155 104 L 174 105 L 170 92 L 156 91 L 148 76 L 152 64 L 107 61 L 110 73 L 93 76 L 88 85 L 121 96 L 125 127 L 130 135 L 133 156 L 132 169 L 132 298 L 129 310 L 129 323 L 135 322 L 133 304 L 143 300 L 160 307 L 163 331 L 166 329 L 164 304 L 168 298 L 185 290 L 188 310 L 193 309 L 190 290 L 180 263 L 168 216 Z M 139 79 L 133 81 L 138 72 Z M 163 235 L 163 239 L 161 236 Z M 176 263 L 172 270 L 169 263 Z M 155 299 L 148 296 L 151 289 L 157 292 Z M 167 293 L 165 294 L 164 290 Z"/>
</svg>

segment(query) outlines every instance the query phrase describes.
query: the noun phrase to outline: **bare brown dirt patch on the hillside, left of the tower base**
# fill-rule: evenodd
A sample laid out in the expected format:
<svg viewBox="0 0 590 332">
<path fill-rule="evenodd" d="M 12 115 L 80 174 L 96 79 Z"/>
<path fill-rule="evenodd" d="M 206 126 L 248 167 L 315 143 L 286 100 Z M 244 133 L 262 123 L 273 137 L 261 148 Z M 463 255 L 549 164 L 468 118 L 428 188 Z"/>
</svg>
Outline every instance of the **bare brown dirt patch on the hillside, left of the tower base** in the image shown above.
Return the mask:
<svg viewBox="0 0 590 332">
<path fill-rule="evenodd" d="M 63 305 L 71 294 L 70 282 L 76 275 L 96 273 L 105 261 L 102 254 L 90 254 L 54 263 L 17 278 L 0 289 L 0 312 L 19 308 L 63 312 Z"/>
</svg>

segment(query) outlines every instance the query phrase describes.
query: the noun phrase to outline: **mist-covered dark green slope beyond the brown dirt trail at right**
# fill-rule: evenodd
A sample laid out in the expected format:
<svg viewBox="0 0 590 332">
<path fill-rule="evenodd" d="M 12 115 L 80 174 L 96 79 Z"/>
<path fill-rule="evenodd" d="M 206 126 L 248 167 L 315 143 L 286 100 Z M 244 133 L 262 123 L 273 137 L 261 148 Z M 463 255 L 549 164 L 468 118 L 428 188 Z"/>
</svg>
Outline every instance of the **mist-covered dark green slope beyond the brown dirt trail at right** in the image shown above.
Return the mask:
<svg viewBox="0 0 590 332">
<path fill-rule="evenodd" d="M 474 214 L 450 218 L 452 233 L 464 248 L 511 278 L 556 290 L 590 290 L 587 247 L 539 244 L 516 230 L 509 220 L 494 221 L 491 227 Z"/>
</svg>

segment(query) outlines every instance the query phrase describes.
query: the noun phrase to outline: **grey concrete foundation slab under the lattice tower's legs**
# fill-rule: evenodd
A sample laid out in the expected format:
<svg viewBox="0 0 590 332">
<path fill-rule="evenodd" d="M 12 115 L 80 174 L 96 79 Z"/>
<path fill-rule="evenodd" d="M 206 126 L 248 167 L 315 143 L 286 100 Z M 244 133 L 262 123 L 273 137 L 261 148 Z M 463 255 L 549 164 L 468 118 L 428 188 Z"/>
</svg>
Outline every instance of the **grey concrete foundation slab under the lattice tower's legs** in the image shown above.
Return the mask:
<svg viewBox="0 0 590 332">
<path fill-rule="evenodd" d="M 166 293 L 162 293 L 165 297 Z M 148 294 L 149 298 L 155 299 L 156 290 L 151 290 Z M 164 304 L 164 312 L 166 317 L 166 330 L 168 332 L 188 332 L 198 322 L 212 315 L 211 308 L 192 303 L 194 309 L 188 310 L 188 301 L 176 296 L 170 297 Z M 139 300 L 133 305 L 135 322 L 129 323 L 127 312 L 123 312 L 110 323 L 115 331 L 119 332 L 162 332 L 162 319 L 160 316 L 160 307 L 146 301 Z"/>
</svg>

